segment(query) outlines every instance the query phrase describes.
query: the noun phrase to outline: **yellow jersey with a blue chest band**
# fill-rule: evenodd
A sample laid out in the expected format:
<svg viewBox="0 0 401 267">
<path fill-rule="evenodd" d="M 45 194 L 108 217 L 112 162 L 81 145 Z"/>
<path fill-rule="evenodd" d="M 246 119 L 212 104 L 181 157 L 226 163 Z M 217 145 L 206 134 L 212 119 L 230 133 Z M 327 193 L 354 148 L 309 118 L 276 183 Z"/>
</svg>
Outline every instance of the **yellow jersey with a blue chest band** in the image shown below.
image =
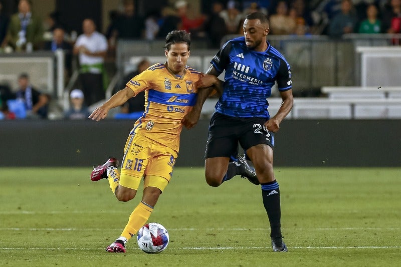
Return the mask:
<svg viewBox="0 0 401 267">
<path fill-rule="evenodd" d="M 145 111 L 130 134 L 139 133 L 178 152 L 181 119 L 196 102 L 200 72 L 185 66 L 182 77 L 177 77 L 166 65 L 150 66 L 127 83 L 135 95 L 145 91 Z"/>
</svg>

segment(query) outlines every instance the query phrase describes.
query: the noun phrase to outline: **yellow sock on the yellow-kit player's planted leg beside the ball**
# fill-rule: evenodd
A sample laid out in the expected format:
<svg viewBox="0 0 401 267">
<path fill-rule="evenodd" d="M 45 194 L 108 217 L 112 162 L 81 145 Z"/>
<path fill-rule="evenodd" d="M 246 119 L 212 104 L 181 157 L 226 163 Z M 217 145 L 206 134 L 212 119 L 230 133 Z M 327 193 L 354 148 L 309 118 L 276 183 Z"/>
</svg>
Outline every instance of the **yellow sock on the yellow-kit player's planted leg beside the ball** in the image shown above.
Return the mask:
<svg viewBox="0 0 401 267">
<path fill-rule="evenodd" d="M 129 216 L 128 223 L 127 225 L 125 225 L 121 236 L 124 236 L 125 238 L 127 238 L 127 240 L 129 240 L 146 223 L 152 211 L 152 207 L 144 204 L 141 201 Z"/>
</svg>

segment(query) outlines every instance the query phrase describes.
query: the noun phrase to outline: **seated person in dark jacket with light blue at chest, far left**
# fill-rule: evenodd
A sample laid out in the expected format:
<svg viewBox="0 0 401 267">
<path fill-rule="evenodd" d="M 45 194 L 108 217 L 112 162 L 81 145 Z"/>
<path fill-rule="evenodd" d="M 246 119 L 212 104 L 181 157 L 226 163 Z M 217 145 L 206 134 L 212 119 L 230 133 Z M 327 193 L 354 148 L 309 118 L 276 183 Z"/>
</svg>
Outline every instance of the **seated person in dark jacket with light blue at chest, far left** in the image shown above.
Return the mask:
<svg viewBox="0 0 401 267">
<path fill-rule="evenodd" d="M 18 78 L 18 91 L 14 98 L 23 101 L 27 111 L 27 118 L 47 119 L 50 96 L 41 93 L 29 83 L 29 75 L 20 74 Z"/>
</svg>

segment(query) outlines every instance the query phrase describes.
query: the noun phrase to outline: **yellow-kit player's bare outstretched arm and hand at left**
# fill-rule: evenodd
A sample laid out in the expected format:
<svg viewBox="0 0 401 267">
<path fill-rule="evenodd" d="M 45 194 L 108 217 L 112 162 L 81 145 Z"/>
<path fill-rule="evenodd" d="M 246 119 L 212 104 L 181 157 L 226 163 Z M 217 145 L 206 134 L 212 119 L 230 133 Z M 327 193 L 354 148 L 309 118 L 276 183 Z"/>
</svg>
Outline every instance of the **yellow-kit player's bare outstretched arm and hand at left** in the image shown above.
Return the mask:
<svg viewBox="0 0 401 267">
<path fill-rule="evenodd" d="M 134 92 L 125 87 L 123 90 L 118 91 L 109 100 L 106 101 L 103 105 L 96 108 L 91 115 L 89 115 L 89 119 L 100 121 L 101 119 L 105 119 L 107 117 L 107 113 L 110 109 L 121 106 L 128 99 L 134 96 Z"/>
</svg>

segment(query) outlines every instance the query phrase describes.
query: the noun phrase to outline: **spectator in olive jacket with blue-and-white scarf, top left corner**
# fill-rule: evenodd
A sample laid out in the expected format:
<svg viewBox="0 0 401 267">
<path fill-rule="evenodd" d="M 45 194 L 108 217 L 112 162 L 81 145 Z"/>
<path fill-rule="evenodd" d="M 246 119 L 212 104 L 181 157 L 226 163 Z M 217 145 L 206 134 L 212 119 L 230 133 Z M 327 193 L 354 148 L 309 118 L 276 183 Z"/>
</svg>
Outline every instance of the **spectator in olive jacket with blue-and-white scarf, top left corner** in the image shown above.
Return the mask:
<svg viewBox="0 0 401 267">
<path fill-rule="evenodd" d="M 20 0 L 18 13 L 11 17 L 6 42 L 17 51 L 25 50 L 28 44 L 33 49 L 43 45 L 43 21 L 31 11 L 30 0 Z"/>
</svg>

